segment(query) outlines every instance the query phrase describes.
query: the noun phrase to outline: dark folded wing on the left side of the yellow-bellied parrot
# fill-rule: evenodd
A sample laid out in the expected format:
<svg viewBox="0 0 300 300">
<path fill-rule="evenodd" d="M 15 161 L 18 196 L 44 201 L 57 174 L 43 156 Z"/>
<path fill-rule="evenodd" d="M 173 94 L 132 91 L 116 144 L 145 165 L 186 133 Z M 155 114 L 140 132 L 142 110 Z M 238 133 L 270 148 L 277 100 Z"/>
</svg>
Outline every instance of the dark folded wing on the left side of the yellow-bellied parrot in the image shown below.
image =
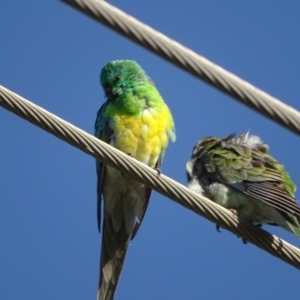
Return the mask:
<svg viewBox="0 0 300 300">
<path fill-rule="evenodd" d="M 110 143 L 113 131 L 109 126 L 109 118 L 103 116 L 106 106 L 109 104 L 106 101 L 99 109 L 95 122 L 95 136 L 100 140 Z M 101 202 L 102 202 L 102 186 L 104 182 L 105 163 L 100 160 L 96 161 L 97 171 L 97 224 L 98 230 L 101 231 Z"/>
</svg>

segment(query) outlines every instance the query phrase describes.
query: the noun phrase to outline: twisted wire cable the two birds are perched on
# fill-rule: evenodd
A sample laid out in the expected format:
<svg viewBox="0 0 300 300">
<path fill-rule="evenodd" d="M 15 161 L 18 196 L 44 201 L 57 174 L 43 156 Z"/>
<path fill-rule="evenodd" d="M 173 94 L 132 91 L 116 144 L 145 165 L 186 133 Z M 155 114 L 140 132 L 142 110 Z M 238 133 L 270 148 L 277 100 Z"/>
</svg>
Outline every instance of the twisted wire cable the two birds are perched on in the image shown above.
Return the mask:
<svg viewBox="0 0 300 300">
<path fill-rule="evenodd" d="M 0 105 L 300 269 L 300 250 L 0 85 Z M 200 232 L 201 228 L 199 228 Z"/>
</svg>

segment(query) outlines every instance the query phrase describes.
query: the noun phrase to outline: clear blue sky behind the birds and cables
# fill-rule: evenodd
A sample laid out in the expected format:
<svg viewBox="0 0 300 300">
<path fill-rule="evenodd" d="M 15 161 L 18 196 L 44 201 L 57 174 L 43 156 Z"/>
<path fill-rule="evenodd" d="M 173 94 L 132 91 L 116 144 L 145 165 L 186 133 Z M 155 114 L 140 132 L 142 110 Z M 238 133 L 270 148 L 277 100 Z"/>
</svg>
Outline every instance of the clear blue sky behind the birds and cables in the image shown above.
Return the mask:
<svg viewBox="0 0 300 300">
<path fill-rule="evenodd" d="M 300 110 L 299 1 L 110 3 Z M 299 138 L 286 129 L 59 1 L 1 5 L 0 84 L 89 133 L 100 69 L 115 59 L 139 62 L 172 110 L 164 174 L 186 184 L 198 139 L 251 129 L 300 184 Z M 0 134 L 0 299 L 95 299 L 94 159 L 2 108 Z M 154 192 L 116 300 L 200 298 L 299 299 L 299 271 Z"/>
</svg>

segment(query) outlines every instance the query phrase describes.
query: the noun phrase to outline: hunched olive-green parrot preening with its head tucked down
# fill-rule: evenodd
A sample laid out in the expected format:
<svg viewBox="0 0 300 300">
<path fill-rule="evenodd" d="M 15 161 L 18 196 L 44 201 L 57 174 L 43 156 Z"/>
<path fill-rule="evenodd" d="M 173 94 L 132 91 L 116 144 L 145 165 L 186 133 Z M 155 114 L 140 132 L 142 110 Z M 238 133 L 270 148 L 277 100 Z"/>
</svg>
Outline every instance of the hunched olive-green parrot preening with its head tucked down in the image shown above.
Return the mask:
<svg viewBox="0 0 300 300">
<path fill-rule="evenodd" d="M 277 225 L 300 237 L 296 186 L 259 137 L 204 138 L 195 145 L 186 172 L 190 189 L 238 217 Z"/>
</svg>

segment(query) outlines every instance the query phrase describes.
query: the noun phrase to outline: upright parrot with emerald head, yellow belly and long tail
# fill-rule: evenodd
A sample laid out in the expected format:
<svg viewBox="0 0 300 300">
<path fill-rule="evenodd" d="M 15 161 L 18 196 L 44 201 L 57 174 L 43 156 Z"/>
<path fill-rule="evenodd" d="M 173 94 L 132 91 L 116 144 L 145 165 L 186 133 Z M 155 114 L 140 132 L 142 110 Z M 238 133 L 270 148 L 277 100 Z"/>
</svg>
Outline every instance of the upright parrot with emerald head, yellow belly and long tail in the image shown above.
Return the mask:
<svg viewBox="0 0 300 300">
<path fill-rule="evenodd" d="M 145 71 L 132 60 L 108 62 L 100 74 L 107 101 L 95 136 L 159 170 L 169 140 L 175 142 L 171 112 Z M 126 250 L 144 218 L 151 189 L 97 161 L 97 216 L 104 200 L 98 300 L 114 298 Z"/>
</svg>

